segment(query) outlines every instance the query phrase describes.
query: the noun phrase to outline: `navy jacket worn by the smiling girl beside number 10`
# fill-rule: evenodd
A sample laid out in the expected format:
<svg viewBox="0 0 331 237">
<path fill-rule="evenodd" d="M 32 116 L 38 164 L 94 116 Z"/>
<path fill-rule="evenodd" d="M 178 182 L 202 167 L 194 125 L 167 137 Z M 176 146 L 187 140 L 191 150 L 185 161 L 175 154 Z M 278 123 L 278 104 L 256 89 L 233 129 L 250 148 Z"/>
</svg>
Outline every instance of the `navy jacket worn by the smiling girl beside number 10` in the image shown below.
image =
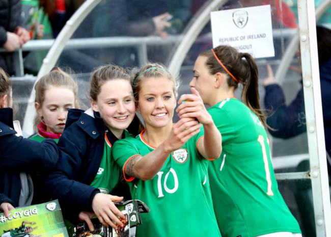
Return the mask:
<svg viewBox="0 0 331 237">
<path fill-rule="evenodd" d="M 83 110 L 69 110 L 58 142 L 59 162 L 46 180 L 47 189 L 59 199 L 69 221 L 75 221 L 81 210 L 92 211 L 93 198 L 100 192 L 90 184 L 101 164 L 105 131 L 103 119 L 93 113 L 94 118 Z"/>
</svg>

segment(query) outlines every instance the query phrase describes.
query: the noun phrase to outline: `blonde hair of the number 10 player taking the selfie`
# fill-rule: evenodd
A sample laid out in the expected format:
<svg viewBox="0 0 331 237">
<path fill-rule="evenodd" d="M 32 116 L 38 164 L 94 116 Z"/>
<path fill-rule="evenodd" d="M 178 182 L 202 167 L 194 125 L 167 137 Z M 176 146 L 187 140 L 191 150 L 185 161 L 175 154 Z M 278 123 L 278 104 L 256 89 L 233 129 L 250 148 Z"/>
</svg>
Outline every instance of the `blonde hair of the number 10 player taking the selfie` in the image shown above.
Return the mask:
<svg viewBox="0 0 331 237">
<path fill-rule="evenodd" d="M 139 72 L 135 73 L 134 81 L 133 81 L 133 92 L 134 98 L 139 100 L 138 94 L 141 90 L 141 84 L 143 81 L 150 77 L 166 77 L 173 82 L 173 91 L 176 96 L 178 97 L 178 88 L 180 85 L 180 81 L 178 76 L 173 77 L 168 69 L 161 63 L 148 63 L 145 67 L 141 68 Z"/>
</svg>

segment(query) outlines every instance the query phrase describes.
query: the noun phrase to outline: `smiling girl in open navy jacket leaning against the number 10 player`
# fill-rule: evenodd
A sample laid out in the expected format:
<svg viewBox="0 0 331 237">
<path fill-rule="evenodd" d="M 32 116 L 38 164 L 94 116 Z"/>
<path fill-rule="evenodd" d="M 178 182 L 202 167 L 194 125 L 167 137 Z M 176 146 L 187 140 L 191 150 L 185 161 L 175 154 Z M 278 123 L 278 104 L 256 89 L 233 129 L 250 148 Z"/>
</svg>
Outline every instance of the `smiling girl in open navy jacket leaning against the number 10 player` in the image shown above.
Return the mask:
<svg viewBox="0 0 331 237">
<path fill-rule="evenodd" d="M 93 230 L 91 217 L 103 225 L 123 226 L 123 214 L 110 195 L 122 177 L 111 151 L 115 141 L 130 137 L 126 128 L 135 117 L 130 72 L 107 65 L 90 77 L 91 108 L 71 109 L 59 139 L 59 163 L 48 176 L 46 186 L 61 203 L 64 218 L 75 223 L 85 220 Z M 136 128 L 135 126 L 133 128 Z M 136 133 L 136 130 L 134 130 Z"/>
</svg>

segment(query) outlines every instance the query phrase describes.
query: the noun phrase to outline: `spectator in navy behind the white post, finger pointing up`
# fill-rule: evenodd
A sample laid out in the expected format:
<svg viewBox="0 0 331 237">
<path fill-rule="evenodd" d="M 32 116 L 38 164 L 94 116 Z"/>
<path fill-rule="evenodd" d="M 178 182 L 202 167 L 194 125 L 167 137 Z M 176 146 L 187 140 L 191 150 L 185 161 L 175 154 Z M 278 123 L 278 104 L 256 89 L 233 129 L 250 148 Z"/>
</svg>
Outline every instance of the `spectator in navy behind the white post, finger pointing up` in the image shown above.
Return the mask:
<svg viewBox="0 0 331 237">
<path fill-rule="evenodd" d="M 328 155 L 331 155 L 331 30 L 316 27 L 319 74 L 321 83 L 322 109 L 324 120 L 325 146 Z M 267 118 L 267 124 L 275 130 L 269 133 L 277 138 L 291 138 L 304 133 L 306 127 L 306 113 L 304 90 L 301 87 L 295 99 L 287 106 L 283 89 L 274 81 L 271 67 L 268 66 L 269 76 L 264 80 L 264 104 L 267 110 L 272 110 Z M 301 69 L 299 69 L 301 73 Z"/>
</svg>

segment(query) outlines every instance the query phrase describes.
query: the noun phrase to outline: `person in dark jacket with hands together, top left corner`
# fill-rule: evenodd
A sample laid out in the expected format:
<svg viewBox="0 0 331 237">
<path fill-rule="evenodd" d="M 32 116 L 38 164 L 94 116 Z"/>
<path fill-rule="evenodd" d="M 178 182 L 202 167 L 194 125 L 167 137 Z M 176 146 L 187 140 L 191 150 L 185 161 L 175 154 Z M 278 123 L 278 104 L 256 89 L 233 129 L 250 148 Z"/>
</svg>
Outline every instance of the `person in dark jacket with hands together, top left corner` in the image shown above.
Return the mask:
<svg viewBox="0 0 331 237">
<path fill-rule="evenodd" d="M 0 67 L 14 74 L 13 51 L 30 40 L 30 33 L 23 28 L 20 0 L 0 0 L 0 46 L 7 52 L 0 53 Z"/>
</svg>

